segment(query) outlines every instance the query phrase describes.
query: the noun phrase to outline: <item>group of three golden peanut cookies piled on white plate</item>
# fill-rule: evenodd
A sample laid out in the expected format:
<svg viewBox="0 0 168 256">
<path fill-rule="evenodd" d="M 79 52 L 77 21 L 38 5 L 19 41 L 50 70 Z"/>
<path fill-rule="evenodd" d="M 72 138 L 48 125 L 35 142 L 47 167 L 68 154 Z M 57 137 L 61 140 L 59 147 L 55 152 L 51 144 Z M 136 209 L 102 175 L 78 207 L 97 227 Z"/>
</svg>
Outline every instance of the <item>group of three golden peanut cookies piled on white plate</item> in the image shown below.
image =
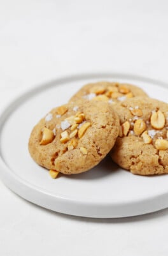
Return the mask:
<svg viewBox="0 0 168 256">
<path fill-rule="evenodd" d="M 130 84 L 87 84 L 36 124 L 29 152 L 54 178 L 90 170 L 108 153 L 134 174 L 168 173 L 168 104 Z"/>
</svg>

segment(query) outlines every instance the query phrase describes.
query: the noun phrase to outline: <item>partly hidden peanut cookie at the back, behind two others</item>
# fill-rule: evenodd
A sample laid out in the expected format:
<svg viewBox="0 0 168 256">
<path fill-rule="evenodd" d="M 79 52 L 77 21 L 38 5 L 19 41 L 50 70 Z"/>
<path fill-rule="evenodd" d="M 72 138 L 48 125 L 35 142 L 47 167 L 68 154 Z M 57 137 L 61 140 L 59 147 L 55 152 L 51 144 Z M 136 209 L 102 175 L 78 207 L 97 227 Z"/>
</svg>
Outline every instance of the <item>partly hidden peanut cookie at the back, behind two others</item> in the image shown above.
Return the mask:
<svg viewBox="0 0 168 256">
<path fill-rule="evenodd" d="M 134 96 L 147 96 L 144 91 L 131 84 L 120 84 L 118 82 L 95 82 L 87 84 L 74 94 L 70 102 L 76 102 L 81 98 L 85 100 L 103 101 L 115 104 Z"/>
</svg>

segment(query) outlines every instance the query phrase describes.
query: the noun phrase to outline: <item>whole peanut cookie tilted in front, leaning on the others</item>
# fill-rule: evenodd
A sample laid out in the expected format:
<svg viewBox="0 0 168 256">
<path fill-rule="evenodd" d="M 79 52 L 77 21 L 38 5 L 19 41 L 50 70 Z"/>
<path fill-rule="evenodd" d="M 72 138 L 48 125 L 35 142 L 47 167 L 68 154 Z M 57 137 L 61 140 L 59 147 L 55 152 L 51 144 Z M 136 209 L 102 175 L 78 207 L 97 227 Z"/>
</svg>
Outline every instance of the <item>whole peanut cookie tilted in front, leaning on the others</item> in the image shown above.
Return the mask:
<svg viewBox="0 0 168 256">
<path fill-rule="evenodd" d="M 118 116 L 106 102 L 68 103 L 52 109 L 36 124 L 29 152 L 46 169 L 78 174 L 109 153 L 119 127 Z"/>
</svg>

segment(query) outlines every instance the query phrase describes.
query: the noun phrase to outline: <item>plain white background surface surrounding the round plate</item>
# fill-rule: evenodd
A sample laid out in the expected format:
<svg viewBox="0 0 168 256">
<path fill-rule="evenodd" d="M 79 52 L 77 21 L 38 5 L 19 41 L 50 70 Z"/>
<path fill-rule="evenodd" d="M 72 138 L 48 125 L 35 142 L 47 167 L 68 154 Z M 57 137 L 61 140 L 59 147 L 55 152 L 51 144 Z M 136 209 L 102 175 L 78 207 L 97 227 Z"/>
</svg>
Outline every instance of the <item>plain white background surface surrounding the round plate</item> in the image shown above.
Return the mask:
<svg viewBox="0 0 168 256">
<path fill-rule="evenodd" d="M 17 93 L 80 72 L 168 82 L 167 0 L 0 0 L 0 107 Z M 53 213 L 0 182 L 0 255 L 167 255 L 168 210 L 94 220 Z"/>
</svg>

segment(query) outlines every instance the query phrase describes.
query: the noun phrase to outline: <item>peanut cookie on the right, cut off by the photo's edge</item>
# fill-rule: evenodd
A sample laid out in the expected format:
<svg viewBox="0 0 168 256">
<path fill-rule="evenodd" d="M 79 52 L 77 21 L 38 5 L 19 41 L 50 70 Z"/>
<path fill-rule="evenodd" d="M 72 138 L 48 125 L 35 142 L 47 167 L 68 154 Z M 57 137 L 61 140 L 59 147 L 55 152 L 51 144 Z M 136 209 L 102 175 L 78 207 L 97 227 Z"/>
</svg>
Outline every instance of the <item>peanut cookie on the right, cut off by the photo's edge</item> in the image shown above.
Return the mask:
<svg viewBox="0 0 168 256">
<path fill-rule="evenodd" d="M 168 173 L 168 104 L 136 97 L 116 106 L 120 133 L 111 158 L 133 174 Z"/>
</svg>

